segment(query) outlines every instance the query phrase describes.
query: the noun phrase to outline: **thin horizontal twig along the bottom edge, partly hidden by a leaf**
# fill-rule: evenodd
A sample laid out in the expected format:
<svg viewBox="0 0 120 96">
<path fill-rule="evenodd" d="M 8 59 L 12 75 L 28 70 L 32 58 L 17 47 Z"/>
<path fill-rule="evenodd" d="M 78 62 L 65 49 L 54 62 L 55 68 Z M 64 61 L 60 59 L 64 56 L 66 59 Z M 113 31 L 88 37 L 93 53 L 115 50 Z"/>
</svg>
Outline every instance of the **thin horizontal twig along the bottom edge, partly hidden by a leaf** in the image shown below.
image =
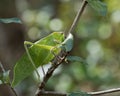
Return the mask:
<svg viewBox="0 0 120 96">
<path fill-rule="evenodd" d="M 98 92 L 87 92 L 88 95 L 91 96 L 97 96 L 97 95 L 109 95 L 114 92 L 120 92 L 120 88 L 114 88 L 114 89 L 109 89 L 109 90 L 104 90 L 104 91 L 98 91 Z M 52 92 L 52 91 L 44 91 L 38 96 L 67 96 L 67 93 L 59 93 L 59 92 Z"/>
</svg>

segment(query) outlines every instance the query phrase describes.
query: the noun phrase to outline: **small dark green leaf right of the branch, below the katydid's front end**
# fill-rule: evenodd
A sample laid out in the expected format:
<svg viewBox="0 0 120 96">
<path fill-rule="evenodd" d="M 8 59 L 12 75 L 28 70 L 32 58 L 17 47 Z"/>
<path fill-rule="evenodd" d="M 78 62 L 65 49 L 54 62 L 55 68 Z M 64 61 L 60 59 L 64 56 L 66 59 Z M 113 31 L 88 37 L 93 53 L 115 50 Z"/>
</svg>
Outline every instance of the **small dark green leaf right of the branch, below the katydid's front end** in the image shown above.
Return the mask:
<svg viewBox="0 0 120 96">
<path fill-rule="evenodd" d="M 83 64 L 87 64 L 84 59 L 82 59 L 81 57 L 78 57 L 78 56 L 67 56 L 66 59 L 71 62 L 80 62 Z"/>
</svg>

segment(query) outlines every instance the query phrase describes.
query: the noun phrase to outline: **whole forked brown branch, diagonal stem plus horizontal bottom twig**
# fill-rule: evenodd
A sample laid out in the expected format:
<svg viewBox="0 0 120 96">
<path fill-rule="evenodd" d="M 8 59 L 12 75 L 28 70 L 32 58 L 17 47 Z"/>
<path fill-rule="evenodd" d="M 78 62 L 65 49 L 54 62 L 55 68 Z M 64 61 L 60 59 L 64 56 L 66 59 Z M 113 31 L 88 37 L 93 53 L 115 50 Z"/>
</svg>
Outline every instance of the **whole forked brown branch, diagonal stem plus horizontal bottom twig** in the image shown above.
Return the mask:
<svg viewBox="0 0 120 96">
<path fill-rule="evenodd" d="M 79 11 L 77 13 L 69 31 L 68 31 L 68 34 L 72 33 L 74 31 L 86 5 L 87 5 L 87 1 L 83 0 L 81 8 L 79 9 Z M 41 84 L 39 86 L 39 90 L 37 91 L 36 96 L 67 96 L 68 95 L 67 93 L 44 91 L 45 85 L 46 85 L 47 81 L 49 80 L 49 78 L 52 76 L 52 73 L 62 62 L 64 62 L 67 55 L 68 55 L 67 52 L 62 51 L 62 53 L 60 53 L 58 56 L 55 57 L 52 66 L 48 69 L 46 75 L 43 78 L 43 81 L 41 82 Z M 60 57 L 61 59 L 58 60 L 58 57 Z M 114 93 L 114 92 L 120 92 L 120 88 L 114 88 L 114 89 L 98 91 L 98 92 L 87 92 L 87 94 L 91 95 L 91 96 L 97 96 L 97 95 L 103 95 L 103 94 L 110 94 L 110 93 Z"/>
</svg>

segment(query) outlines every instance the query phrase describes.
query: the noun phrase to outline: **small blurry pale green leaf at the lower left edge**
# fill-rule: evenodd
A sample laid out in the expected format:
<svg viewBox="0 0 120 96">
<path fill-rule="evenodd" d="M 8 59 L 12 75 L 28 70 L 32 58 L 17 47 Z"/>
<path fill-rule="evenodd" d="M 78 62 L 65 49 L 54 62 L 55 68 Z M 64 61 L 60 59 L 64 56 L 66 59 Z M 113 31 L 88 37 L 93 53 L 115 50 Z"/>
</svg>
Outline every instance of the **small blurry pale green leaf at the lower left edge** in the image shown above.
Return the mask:
<svg viewBox="0 0 120 96">
<path fill-rule="evenodd" d="M 9 73 L 10 73 L 10 70 L 0 74 L 0 84 L 9 83 L 10 81 Z"/>
</svg>

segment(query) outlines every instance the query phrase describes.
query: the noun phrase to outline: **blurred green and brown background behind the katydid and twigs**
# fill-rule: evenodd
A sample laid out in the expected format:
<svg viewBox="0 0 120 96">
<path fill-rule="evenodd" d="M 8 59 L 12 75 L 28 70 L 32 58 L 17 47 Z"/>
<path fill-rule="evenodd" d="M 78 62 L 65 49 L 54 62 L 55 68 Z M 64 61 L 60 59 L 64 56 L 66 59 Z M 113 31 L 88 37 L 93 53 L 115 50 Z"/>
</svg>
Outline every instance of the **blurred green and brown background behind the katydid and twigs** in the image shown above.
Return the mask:
<svg viewBox="0 0 120 96">
<path fill-rule="evenodd" d="M 11 70 L 11 78 L 15 62 L 25 52 L 24 40 L 35 42 L 51 32 L 68 30 L 81 1 L 0 0 L 0 18 L 19 17 L 23 22 L 0 24 L 0 61 L 6 70 Z M 73 32 L 71 55 L 84 58 L 88 65 L 79 62 L 61 65 L 46 90 L 98 91 L 120 86 L 120 0 L 102 1 L 108 6 L 107 15 L 100 16 L 88 5 Z M 16 90 L 19 96 L 34 96 L 37 85 L 33 74 Z M 8 95 L 14 96 L 7 85 L 0 85 L 0 96 Z"/>
</svg>

